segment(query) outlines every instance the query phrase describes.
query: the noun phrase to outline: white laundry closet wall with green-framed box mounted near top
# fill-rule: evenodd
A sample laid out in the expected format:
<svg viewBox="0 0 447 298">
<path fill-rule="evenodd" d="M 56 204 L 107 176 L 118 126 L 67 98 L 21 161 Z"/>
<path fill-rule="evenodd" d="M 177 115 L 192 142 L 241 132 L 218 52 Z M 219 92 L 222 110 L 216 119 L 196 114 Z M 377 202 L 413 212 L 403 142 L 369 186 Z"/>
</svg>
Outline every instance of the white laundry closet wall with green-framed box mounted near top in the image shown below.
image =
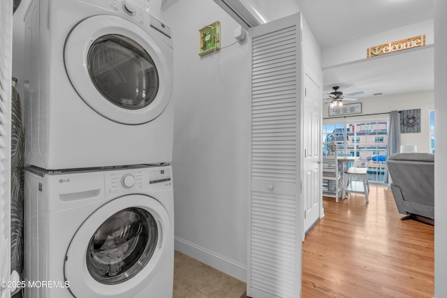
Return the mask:
<svg viewBox="0 0 447 298">
<path fill-rule="evenodd" d="M 205 13 L 206 12 L 206 13 Z M 245 280 L 251 54 L 247 40 L 198 56 L 198 30 L 219 20 L 222 47 L 238 24 L 212 0 L 161 14 L 173 29 L 176 248 Z"/>
</svg>

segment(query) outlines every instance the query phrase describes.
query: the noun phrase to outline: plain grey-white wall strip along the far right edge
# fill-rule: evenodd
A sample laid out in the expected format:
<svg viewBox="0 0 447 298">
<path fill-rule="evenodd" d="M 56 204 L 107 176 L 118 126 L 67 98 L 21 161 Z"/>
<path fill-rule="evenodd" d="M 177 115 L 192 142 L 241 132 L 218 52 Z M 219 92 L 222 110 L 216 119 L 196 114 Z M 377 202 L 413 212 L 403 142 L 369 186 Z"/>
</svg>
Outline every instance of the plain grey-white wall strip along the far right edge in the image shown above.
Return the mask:
<svg viewBox="0 0 447 298">
<path fill-rule="evenodd" d="M 446 297 L 447 293 L 447 1 L 434 1 L 434 102 L 436 104 L 436 160 L 434 162 L 434 296 Z"/>
</svg>

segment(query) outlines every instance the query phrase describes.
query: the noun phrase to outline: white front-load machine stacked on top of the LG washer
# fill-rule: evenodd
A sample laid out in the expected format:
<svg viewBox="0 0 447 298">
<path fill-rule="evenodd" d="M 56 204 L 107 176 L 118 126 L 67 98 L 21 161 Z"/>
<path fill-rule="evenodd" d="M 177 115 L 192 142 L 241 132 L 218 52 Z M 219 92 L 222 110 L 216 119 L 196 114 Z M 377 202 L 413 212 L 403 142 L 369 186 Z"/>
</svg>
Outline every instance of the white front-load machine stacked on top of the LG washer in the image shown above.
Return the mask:
<svg viewBox="0 0 447 298">
<path fill-rule="evenodd" d="M 173 42 L 149 0 L 33 0 L 25 15 L 26 163 L 170 163 Z"/>
</svg>

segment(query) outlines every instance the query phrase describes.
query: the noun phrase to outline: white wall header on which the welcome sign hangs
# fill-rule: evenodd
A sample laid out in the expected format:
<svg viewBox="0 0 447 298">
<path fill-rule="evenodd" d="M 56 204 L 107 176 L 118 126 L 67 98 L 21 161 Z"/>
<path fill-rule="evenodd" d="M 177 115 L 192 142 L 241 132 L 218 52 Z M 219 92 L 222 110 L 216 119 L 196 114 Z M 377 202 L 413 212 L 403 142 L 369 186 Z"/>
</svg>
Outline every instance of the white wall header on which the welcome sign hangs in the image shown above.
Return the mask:
<svg viewBox="0 0 447 298">
<path fill-rule="evenodd" d="M 323 68 L 328 68 L 330 66 L 366 59 L 367 48 L 369 47 L 423 34 L 425 34 L 425 44 L 432 45 L 434 43 L 433 20 L 418 22 L 370 36 L 364 36 L 343 43 L 342 45 L 325 47 L 323 49 L 322 66 Z"/>
</svg>

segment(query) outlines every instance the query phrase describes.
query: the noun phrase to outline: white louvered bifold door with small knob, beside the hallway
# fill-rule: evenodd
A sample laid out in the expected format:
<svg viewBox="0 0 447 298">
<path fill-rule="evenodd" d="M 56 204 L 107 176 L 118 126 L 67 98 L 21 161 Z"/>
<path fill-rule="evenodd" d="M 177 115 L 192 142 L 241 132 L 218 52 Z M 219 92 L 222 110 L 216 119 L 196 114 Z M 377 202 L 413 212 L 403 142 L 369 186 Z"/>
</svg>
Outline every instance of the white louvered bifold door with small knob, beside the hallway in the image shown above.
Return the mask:
<svg viewBox="0 0 447 298">
<path fill-rule="evenodd" d="M 300 297 L 300 15 L 252 31 L 247 295 Z"/>
</svg>

